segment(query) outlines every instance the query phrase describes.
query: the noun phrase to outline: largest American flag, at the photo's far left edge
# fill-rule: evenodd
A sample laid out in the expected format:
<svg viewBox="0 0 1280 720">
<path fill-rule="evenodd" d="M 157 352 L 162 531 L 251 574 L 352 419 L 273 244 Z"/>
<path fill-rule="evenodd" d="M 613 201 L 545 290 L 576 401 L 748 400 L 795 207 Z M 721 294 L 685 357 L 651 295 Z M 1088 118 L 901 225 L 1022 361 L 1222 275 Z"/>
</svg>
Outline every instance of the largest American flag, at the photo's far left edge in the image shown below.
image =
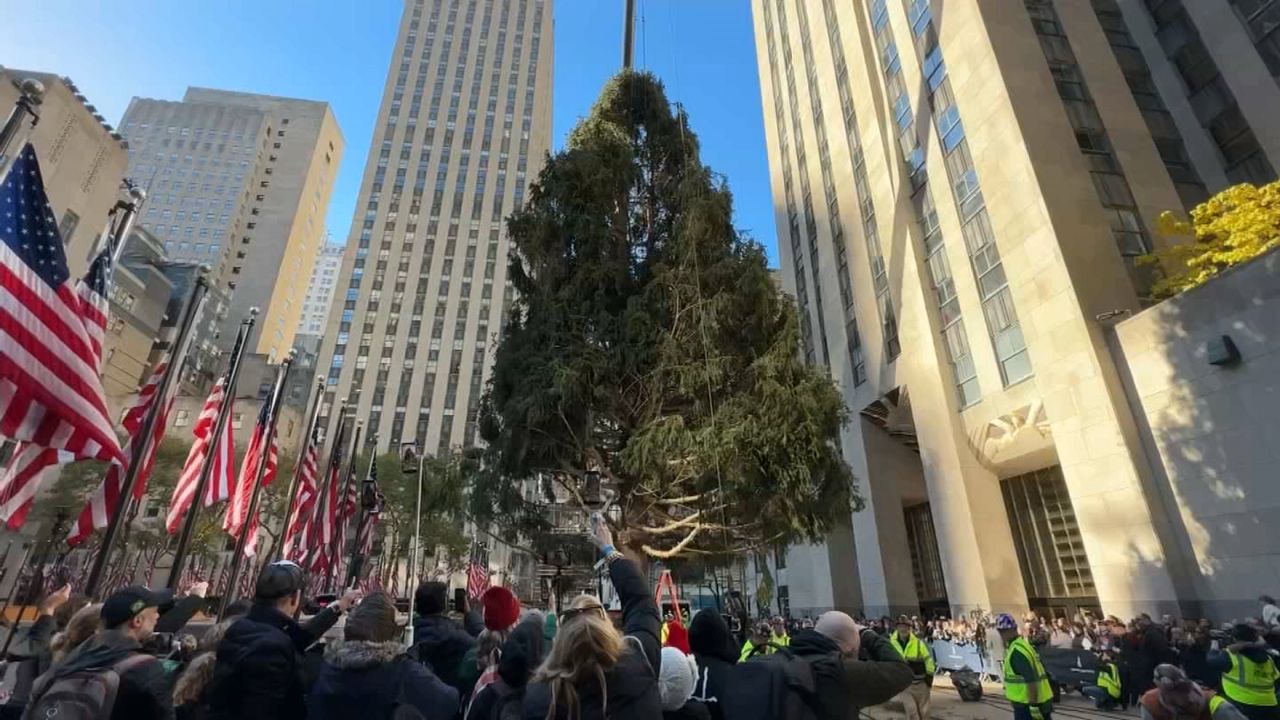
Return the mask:
<svg viewBox="0 0 1280 720">
<path fill-rule="evenodd" d="M 82 459 L 122 461 L 99 365 L 111 243 L 73 290 L 36 151 L 0 186 L 0 436 L 19 441 L 0 478 L 0 518 L 20 527 L 41 471 Z"/>
</svg>

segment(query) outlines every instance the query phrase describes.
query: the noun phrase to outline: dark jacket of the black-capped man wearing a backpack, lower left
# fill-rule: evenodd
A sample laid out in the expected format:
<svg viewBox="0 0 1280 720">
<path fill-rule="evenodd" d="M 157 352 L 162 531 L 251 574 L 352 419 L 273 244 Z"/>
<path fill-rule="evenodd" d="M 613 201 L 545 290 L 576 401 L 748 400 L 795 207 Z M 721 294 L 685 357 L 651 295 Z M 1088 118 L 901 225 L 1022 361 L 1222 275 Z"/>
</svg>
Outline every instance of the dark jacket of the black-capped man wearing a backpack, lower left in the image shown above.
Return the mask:
<svg viewBox="0 0 1280 720">
<path fill-rule="evenodd" d="M 141 653 L 142 646 L 123 630 L 99 630 L 37 684 L 90 667 L 110 667 Z M 47 687 L 47 684 L 46 684 Z M 172 720 L 173 688 L 159 660 L 141 662 L 120 675 L 111 720 Z"/>
</svg>

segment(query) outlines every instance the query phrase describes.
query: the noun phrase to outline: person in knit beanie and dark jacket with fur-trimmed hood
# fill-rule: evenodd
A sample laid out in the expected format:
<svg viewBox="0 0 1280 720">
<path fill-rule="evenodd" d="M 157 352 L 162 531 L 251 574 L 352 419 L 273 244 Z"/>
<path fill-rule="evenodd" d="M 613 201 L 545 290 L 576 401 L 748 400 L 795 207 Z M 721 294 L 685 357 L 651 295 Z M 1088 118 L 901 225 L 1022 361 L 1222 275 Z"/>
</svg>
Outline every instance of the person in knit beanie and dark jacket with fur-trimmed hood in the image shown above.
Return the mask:
<svg viewBox="0 0 1280 720">
<path fill-rule="evenodd" d="M 404 655 L 396 605 L 371 593 L 352 609 L 343 639 L 325 647 L 320 676 L 307 694 L 311 720 L 394 717 L 412 708 L 428 720 L 458 714 L 458 691 Z"/>
</svg>

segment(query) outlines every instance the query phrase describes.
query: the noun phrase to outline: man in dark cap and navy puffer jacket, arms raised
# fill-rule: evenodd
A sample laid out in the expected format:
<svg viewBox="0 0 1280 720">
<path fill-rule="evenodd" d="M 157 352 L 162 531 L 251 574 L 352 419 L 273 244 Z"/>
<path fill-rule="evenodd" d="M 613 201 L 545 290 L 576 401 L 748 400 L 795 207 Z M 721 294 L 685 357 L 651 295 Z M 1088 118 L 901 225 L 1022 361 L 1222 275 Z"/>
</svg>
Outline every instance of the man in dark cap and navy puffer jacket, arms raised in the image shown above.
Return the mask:
<svg viewBox="0 0 1280 720">
<path fill-rule="evenodd" d="M 360 597 L 347 591 L 306 624 L 298 624 L 306 573 L 279 560 L 262 568 L 253 606 L 218 644 L 214 678 L 205 693 L 207 720 L 296 720 L 306 717 L 303 653 Z"/>
</svg>

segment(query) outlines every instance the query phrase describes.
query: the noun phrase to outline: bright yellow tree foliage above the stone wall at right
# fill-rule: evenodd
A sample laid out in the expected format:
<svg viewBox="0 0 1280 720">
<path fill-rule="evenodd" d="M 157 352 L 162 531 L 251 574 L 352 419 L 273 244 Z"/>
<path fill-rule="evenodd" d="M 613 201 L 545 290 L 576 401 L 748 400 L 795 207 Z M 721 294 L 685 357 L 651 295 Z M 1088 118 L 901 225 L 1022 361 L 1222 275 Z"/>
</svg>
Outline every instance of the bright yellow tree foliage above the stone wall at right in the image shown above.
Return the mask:
<svg viewBox="0 0 1280 720">
<path fill-rule="evenodd" d="M 1152 295 L 1171 297 L 1280 247 L 1280 182 L 1229 187 L 1197 205 L 1190 222 L 1166 211 L 1160 217 L 1158 231 L 1164 236 L 1192 238 L 1143 259 L 1158 263 L 1165 270 Z"/>
</svg>

